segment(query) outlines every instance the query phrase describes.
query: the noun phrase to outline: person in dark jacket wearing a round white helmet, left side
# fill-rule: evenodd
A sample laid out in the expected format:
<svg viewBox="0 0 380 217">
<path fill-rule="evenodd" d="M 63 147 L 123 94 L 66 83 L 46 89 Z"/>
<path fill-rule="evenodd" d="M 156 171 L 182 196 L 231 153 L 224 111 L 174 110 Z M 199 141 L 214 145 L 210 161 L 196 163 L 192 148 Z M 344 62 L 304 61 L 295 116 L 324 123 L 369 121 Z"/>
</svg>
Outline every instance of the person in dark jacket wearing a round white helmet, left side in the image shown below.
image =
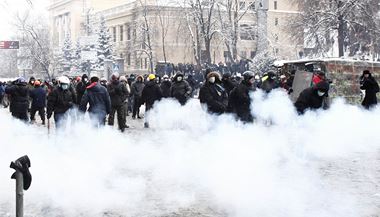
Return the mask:
<svg viewBox="0 0 380 217">
<path fill-rule="evenodd" d="M 63 126 L 68 111 L 74 107 L 77 101 L 76 93 L 70 86 L 70 80 L 66 76 L 57 79 L 58 86 L 48 96 L 47 119 L 54 113 L 54 122 L 57 129 Z"/>
</svg>

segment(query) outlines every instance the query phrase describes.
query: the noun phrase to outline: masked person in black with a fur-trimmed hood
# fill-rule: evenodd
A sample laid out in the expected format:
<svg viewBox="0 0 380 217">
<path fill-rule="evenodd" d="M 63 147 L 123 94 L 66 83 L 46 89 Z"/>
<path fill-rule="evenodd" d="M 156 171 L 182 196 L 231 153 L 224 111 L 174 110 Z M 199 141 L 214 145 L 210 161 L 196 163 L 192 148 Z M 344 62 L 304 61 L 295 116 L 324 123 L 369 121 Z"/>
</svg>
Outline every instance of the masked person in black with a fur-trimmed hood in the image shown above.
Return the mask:
<svg viewBox="0 0 380 217">
<path fill-rule="evenodd" d="M 221 85 L 219 73 L 207 72 L 206 80 L 199 91 L 199 100 L 209 112 L 223 114 L 227 111 L 228 95 Z"/>
</svg>

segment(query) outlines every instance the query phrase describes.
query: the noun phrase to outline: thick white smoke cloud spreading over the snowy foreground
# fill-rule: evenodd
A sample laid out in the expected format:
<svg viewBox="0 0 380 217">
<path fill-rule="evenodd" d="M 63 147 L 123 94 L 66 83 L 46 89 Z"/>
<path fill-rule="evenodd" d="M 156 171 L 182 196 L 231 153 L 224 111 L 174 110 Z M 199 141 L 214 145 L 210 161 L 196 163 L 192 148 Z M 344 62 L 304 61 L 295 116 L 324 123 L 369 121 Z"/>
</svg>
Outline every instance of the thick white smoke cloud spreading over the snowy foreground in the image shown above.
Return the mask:
<svg viewBox="0 0 380 217">
<path fill-rule="evenodd" d="M 380 213 L 379 108 L 338 99 L 299 117 L 281 91 L 252 97 L 255 124 L 209 115 L 198 100 L 163 100 L 151 129 L 124 134 L 79 122 L 48 135 L 2 110 L 0 215 L 14 213 L 8 165 L 24 154 L 33 175 L 26 216 Z"/>
</svg>

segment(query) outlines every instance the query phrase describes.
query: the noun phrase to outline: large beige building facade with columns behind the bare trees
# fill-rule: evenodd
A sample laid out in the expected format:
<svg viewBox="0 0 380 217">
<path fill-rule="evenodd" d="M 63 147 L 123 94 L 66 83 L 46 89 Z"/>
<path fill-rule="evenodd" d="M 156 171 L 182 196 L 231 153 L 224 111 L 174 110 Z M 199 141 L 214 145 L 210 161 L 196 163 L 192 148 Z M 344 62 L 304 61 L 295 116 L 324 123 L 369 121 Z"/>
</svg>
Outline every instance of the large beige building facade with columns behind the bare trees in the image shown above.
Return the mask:
<svg viewBox="0 0 380 217">
<path fill-rule="evenodd" d="M 194 11 L 183 5 L 162 2 L 52 0 L 49 10 L 54 46 L 62 45 L 67 34 L 72 41 L 92 34 L 99 18 L 104 17 L 112 36 L 114 56 L 124 59 L 127 72 L 148 72 L 157 62 L 203 63 L 207 52 L 199 26 L 190 17 Z M 233 25 L 225 24 L 228 13 L 223 9 L 223 2 L 217 7 L 218 11 L 214 11 L 210 62 L 253 59 L 263 51 L 279 59 L 295 59 L 302 55 L 303 42 L 294 42 L 286 29 L 291 17 L 299 13 L 292 0 L 238 1 L 237 14 L 241 19 L 234 27 L 236 36 L 231 36 L 236 37 L 236 45 L 229 49 L 226 44 L 234 42 L 226 40 L 231 34 L 225 29 Z"/>
</svg>

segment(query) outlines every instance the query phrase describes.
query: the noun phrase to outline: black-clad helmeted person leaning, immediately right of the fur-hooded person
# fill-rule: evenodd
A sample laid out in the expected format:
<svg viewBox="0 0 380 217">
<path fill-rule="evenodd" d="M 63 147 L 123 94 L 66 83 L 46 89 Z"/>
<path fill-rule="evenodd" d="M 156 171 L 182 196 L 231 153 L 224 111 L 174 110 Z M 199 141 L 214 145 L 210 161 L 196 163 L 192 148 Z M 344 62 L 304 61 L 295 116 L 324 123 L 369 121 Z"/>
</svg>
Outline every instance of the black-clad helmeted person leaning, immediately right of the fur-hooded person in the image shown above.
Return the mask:
<svg viewBox="0 0 380 217">
<path fill-rule="evenodd" d="M 255 74 L 251 71 L 246 71 L 243 73 L 243 80 L 231 91 L 229 96 L 228 105 L 231 112 L 245 123 L 253 122 L 250 109 L 250 94 L 256 90 L 255 83 Z"/>
</svg>

